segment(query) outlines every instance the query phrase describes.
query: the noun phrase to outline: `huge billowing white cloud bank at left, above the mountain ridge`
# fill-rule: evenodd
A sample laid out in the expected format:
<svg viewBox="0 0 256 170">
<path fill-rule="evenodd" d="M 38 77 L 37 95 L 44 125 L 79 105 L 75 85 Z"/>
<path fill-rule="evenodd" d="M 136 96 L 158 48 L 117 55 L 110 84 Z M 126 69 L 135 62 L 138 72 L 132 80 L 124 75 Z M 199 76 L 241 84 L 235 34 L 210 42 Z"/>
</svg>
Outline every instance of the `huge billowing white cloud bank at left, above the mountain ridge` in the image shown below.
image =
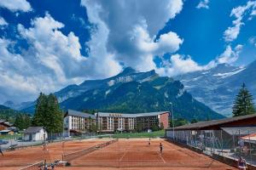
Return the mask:
<svg viewBox="0 0 256 170">
<path fill-rule="evenodd" d="M 20 37 L 29 44 L 22 54 L 9 51 L 15 42 L 0 39 L 0 91 L 5 96 L 2 99 L 35 99 L 40 91 L 55 92 L 68 84 L 113 76 L 121 70 L 111 55 L 80 54 L 79 37 L 73 32 L 64 35 L 60 31 L 63 26 L 49 14 L 32 20 L 30 28 L 19 25 Z"/>
</svg>

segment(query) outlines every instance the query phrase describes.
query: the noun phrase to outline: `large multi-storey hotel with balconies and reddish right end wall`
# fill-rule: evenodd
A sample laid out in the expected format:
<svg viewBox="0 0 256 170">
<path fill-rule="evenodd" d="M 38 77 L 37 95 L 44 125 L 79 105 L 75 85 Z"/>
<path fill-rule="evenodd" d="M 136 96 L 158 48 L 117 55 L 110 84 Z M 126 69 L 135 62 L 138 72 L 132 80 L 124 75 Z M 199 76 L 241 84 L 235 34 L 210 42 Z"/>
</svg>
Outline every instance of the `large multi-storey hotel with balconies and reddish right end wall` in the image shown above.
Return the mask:
<svg viewBox="0 0 256 170">
<path fill-rule="evenodd" d="M 64 130 L 70 133 L 83 133 L 96 126 L 98 132 L 113 133 L 115 131 L 135 131 L 140 128 L 143 131 L 152 127 L 169 127 L 169 111 L 149 113 L 104 113 L 97 112 L 95 115 L 68 110 L 64 117 Z"/>
</svg>

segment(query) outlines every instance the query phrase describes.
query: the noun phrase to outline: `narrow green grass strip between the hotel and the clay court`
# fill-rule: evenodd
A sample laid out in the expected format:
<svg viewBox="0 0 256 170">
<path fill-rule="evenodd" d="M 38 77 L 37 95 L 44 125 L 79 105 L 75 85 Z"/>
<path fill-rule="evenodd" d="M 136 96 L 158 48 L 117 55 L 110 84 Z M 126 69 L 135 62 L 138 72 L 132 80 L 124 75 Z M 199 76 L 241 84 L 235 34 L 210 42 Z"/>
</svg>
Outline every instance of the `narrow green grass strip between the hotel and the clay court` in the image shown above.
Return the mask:
<svg viewBox="0 0 256 170">
<path fill-rule="evenodd" d="M 152 133 L 117 133 L 113 134 L 113 138 L 157 138 L 164 137 L 165 130 L 155 131 Z"/>
</svg>

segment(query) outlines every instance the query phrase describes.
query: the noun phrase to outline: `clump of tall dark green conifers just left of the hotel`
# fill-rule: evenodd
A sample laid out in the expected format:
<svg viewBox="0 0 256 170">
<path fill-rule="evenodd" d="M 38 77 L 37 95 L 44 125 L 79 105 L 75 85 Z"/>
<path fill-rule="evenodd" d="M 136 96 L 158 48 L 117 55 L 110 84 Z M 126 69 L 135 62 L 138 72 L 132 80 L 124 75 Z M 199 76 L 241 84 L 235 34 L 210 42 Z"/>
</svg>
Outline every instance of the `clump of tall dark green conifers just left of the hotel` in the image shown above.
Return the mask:
<svg viewBox="0 0 256 170">
<path fill-rule="evenodd" d="M 37 99 L 35 115 L 32 118 L 33 126 L 42 126 L 48 133 L 61 133 L 63 115 L 54 94 L 40 94 Z"/>
</svg>

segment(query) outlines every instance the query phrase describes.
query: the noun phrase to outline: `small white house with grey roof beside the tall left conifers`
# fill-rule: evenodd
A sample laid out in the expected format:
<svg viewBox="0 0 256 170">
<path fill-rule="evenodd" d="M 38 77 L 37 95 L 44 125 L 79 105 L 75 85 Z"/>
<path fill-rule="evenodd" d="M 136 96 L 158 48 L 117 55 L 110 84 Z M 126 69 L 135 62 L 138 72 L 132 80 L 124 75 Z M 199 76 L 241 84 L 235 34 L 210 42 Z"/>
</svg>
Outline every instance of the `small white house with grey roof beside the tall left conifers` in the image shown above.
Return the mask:
<svg viewBox="0 0 256 170">
<path fill-rule="evenodd" d="M 26 141 L 38 141 L 47 139 L 47 132 L 44 130 L 44 127 L 28 127 L 24 131 L 24 140 Z"/>
</svg>

